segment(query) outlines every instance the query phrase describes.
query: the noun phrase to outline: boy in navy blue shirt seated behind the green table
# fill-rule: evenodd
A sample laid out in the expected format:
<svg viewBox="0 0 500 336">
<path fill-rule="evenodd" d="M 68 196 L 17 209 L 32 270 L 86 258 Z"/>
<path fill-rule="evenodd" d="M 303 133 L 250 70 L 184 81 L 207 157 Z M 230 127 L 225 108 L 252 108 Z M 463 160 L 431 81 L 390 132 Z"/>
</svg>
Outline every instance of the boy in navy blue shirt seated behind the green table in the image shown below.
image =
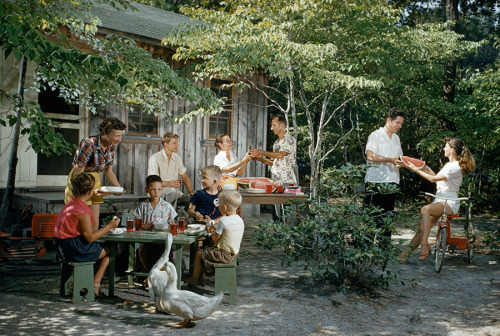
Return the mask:
<svg viewBox="0 0 500 336">
<path fill-rule="evenodd" d="M 197 222 L 208 223 L 210 220 L 219 222 L 219 181 L 222 171 L 216 165 L 210 165 L 201 170 L 202 190 L 194 193 L 189 201 L 188 214 Z"/>
</svg>

